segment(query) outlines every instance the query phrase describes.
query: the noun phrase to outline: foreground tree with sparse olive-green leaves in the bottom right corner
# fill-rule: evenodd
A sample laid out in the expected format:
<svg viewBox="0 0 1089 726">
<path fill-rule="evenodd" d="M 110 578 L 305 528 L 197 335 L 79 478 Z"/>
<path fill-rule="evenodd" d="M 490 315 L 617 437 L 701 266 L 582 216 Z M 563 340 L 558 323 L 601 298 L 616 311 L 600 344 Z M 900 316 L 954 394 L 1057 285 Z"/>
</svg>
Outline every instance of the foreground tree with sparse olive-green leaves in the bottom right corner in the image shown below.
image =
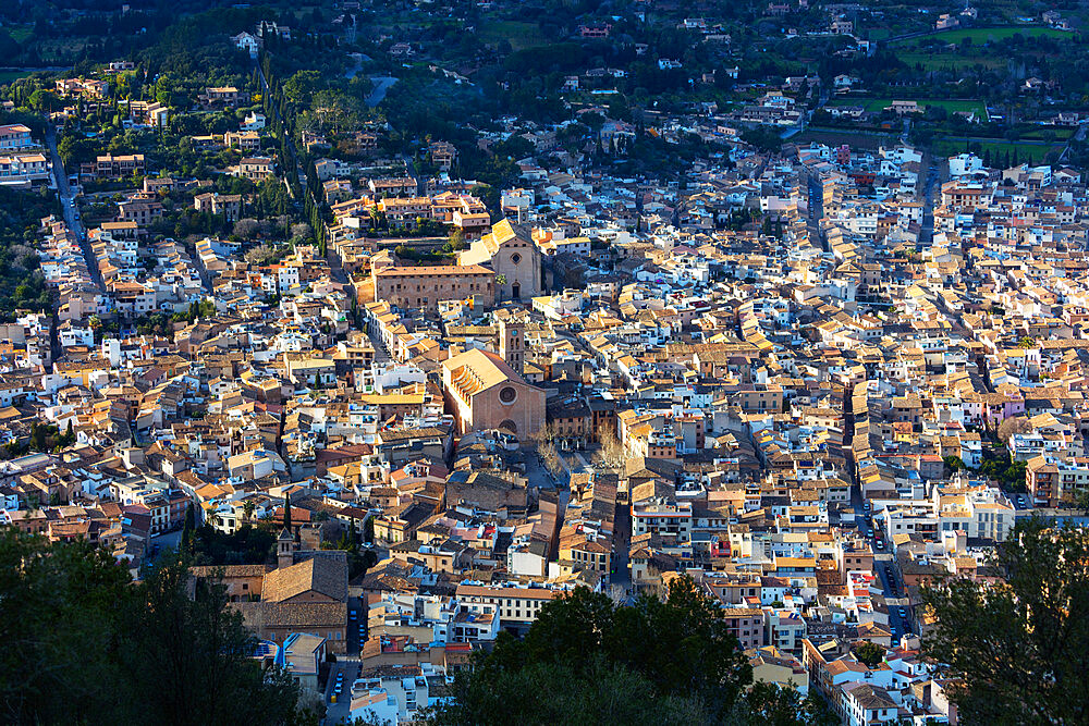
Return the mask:
<svg viewBox="0 0 1089 726">
<path fill-rule="evenodd" d="M 929 656 L 953 678 L 965 723 L 1089 722 L 1089 531 L 1033 518 L 992 564 L 995 585 L 949 577 L 923 589 Z"/>
</svg>

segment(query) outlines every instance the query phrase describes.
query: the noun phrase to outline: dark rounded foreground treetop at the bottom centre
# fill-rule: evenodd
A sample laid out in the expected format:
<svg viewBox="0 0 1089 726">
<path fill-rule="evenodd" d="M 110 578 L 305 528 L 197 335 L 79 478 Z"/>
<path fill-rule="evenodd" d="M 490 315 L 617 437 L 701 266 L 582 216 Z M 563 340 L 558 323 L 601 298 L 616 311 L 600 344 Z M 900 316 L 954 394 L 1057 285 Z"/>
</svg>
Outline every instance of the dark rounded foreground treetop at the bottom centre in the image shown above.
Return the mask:
<svg viewBox="0 0 1089 726">
<path fill-rule="evenodd" d="M 432 723 L 707 723 L 730 714 L 751 675 L 722 611 L 689 577 L 665 600 L 643 594 L 634 605 L 576 588 L 546 605 L 524 640 L 501 633 Z M 571 700 L 558 710 L 561 693 Z"/>
</svg>

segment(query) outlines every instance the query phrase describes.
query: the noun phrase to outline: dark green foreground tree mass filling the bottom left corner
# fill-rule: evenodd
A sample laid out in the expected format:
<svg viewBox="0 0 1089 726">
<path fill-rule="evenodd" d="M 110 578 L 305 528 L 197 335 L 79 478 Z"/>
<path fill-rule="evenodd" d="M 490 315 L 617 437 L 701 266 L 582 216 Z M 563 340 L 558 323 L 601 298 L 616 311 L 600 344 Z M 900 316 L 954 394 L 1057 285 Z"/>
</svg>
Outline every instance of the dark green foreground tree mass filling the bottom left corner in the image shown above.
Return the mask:
<svg viewBox="0 0 1089 726">
<path fill-rule="evenodd" d="M 0 637 L 4 723 L 289 726 L 304 716 L 290 676 L 252 657 L 256 641 L 225 588 L 192 582 L 184 555 L 132 583 L 105 549 L 4 528 Z"/>
</svg>

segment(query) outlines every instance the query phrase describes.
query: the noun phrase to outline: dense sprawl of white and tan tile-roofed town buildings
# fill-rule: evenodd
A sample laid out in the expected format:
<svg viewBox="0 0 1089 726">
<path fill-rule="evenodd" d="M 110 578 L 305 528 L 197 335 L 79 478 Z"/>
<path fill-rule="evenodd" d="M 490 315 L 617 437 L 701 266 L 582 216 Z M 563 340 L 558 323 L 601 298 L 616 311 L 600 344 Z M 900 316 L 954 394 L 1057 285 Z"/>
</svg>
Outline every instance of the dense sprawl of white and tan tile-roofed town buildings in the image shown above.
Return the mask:
<svg viewBox="0 0 1089 726">
<path fill-rule="evenodd" d="M 768 91 L 739 120 L 793 104 Z M 320 160 L 327 254 L 274 259 L 149 232 L 164 193 L 228 221 L 245 195 L 98 157 L 85 179 L 140 186 L 86 238 L 41 220 L 56 321 L 0 327 L 0 521 L 134 574 L 188 512 L 272 529 L 267 562 L 194 577 L 221 576 L 305 688 L 327 653 L 358 655 L 332 693 L 345 716 L 411 721 L 575 587 L 624 600 L 687 574 L 757 678 L 817 689 L 846 724 L 955 722 L 919 655 L 920 586 L 993 578 L 1019 517 L 1089 488 L 1086 185 L 907 146 L 762 155 L 733 120 L 698 130 L 734 140 L 683 186 L 530 157 L 494 217 L 451 144 L 429 179 Z M 509 126 L 491 140 L 554 150 L 555 130 Z M 194 140 L 249 152 L 264 127 Z M 629 134 L 607 121 L 599 140 Z M 48 175 L 28 148 L 0 127 L 0 176 L 27 153 L 42 165 L 20 173 Z M 428 221 L 450 236 L 407 234 Z M 47 430 L 68 439 L 45 448 Z M 1019 466 L 1024 494 L 981 472 Z M 357 545 L 378 555 L 362 573 Z"/>
</svg>

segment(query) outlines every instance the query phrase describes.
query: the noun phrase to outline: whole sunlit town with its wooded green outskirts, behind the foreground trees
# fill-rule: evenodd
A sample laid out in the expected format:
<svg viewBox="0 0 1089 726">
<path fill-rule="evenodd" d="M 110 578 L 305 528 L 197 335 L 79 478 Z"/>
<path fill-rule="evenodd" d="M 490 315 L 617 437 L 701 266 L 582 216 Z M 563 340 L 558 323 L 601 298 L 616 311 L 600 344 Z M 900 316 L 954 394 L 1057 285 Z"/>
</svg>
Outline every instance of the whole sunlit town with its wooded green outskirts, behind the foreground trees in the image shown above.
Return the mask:
<svg viewBox="0 0 1089 726">
<path fill-rule="evenodd" d="M 981 723 L 942 588 L 1089 517 L 1082 9 L 16 4 L 21 546 L 180 563 L 315 724 L 530 723 L 507 638 L 682 592 L 748 697 L 653 723 Z"/>
</svg>

